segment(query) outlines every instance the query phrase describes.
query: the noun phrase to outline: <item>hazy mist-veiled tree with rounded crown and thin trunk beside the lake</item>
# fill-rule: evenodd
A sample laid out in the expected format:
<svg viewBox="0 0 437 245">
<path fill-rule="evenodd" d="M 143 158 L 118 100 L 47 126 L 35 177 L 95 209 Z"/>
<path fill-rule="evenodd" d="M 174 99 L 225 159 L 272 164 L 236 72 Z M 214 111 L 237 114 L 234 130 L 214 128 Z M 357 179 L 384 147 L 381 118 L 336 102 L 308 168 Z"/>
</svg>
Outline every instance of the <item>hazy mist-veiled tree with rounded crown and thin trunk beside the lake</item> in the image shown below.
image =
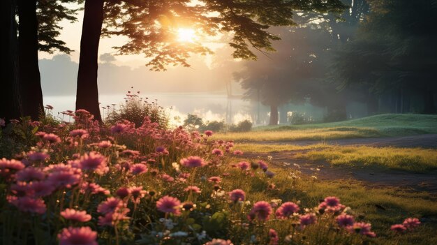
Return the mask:
<svg viewBox="0 0 437 245">
<path fill-rule="evenodd" d="M 244 97 L 270 106 L 269 125 L 278 124 L 278 107 L 290 101 L 316 101 L 320 80 L 326 73 L 326 52 L 331 44 L 327 31 L 312 26 L 275 29 L 282 41 L 276 53 L 257 62 L 235 77 L 246 89 Z M 286 117 L 286 115 L 282 115 Z"/>
</svg>

